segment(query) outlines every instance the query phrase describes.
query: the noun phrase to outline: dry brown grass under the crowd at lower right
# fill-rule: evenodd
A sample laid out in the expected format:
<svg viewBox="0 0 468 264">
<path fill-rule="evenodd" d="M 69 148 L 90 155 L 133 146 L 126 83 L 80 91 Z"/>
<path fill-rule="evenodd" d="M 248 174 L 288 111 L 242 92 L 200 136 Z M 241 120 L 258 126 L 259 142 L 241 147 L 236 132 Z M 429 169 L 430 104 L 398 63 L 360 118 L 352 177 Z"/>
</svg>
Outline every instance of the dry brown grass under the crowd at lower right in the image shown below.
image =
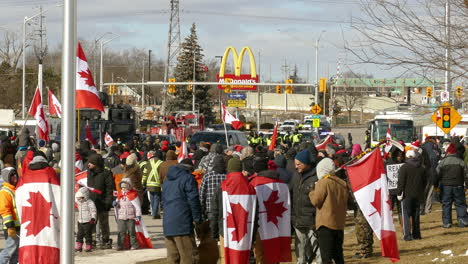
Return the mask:
<svg viewBox="0 0 468 264">
<path fill-rule="evenodd" d="M 455 211 L 455 210 L 453 210 Z M 453 219 L 456 214 L 453 212 Z M 346 263 L 391 263 L 388 258 L 381 257 L 380 242 L 374 236 L 374 254 L 368 259 L 353 259 L 357 252 L 357 242 L 354 233 L 352 218 L 347 219 L 344 236 L 344 255 Z M 459 228 L 455 224 L 452 228 L 442 228 L 442 216 L 440 204 L 434 204 L 432 213 L 421 216 L 421 240 L 404 241 L 403 232 L 398 220 L 395 219 L 397 230 L 400 261 L 398 263 L 468 263 L 467 233 L 468 228 Z M 444 255 L 441 252 L 451 250 L 453 256 Z M 293 253 L 294 258 L 294 253 Z M 153 262 L 141 262 L 140 264 L 161 264 L 165 259 Z M 290 262 L 293 263 L 293 262 Z"/>
</svg>

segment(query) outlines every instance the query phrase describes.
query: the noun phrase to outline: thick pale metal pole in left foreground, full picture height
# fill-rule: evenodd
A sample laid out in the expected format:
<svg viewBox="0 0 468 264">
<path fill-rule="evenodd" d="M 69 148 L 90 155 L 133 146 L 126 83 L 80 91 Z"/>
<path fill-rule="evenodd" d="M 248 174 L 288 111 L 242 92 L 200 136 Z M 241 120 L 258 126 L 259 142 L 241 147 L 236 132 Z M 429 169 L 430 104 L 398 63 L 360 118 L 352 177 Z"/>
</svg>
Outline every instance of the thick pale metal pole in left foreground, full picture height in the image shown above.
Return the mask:
<svg viewBox="0 0 468 264">
<path fill-rule="evenodd" d="M 76 0 L 64 0 L 62 51 L 62 177 L 60 263 L 74 263 Z"/>
</svg>

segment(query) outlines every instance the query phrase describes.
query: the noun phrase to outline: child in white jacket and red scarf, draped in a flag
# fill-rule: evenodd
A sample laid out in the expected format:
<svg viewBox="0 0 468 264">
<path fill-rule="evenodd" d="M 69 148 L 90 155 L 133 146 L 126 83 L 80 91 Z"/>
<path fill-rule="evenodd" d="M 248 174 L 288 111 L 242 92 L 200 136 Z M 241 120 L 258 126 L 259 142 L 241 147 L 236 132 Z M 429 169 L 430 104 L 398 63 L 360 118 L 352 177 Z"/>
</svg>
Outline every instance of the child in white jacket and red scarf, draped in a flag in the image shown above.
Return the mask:
<svg viewBox="0 0 468 264">
<path fill-rule="evenodd" d="M 141 221 L 141 206 L 138 193 L 133 189 L 130 179 L 124 178 L 119 183 L 120 191 L 115 201 L 117 224 L 119 235 L 117 238 L 117 250 L 125 248 L 124 241 L 127 233 L 130 236 L 131 250 L 138 249 L 135 224 Z"/>
</svg>

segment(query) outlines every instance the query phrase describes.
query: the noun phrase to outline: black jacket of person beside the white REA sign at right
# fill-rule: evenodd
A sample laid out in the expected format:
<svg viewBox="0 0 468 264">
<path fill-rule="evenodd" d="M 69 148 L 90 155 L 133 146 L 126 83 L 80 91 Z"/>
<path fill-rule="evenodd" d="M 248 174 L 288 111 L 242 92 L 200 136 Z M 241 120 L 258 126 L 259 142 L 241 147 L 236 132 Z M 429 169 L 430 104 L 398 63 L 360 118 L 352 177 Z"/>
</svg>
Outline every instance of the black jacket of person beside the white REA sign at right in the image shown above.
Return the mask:
<svg viewBox="0 0 468 264">
<path fill-rule="evenodd" d="M 422 200 L 426 183 L 426 168 L 422 166 L 421 161 L 418 158 L 406 160 L 398 171 L 398 195 Z"/>
</svg>

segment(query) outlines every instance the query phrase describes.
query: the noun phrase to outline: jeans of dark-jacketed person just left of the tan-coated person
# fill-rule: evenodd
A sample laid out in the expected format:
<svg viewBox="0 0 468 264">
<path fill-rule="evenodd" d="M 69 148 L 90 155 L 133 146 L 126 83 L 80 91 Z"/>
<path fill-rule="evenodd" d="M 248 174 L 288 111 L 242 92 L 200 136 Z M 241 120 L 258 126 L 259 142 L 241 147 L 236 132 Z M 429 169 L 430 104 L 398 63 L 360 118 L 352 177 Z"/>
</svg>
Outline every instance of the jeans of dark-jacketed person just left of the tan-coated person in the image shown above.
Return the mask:
<svg viewBox="0 0 468 264">
<path fill-rule="evenodd" d="M 306 264 L 312 263 L 307 261 L 307 258 L 313 255 L 312 249 L 313 245 L 318 243 L 317 235 L 314 233 L 312 229 L 298 229 L 296 230 L 296 257 L 297 257 L 297 264 Z M 310 241 L 310 245 L 307 245 L 307 242 Z M 317 264 L 322 263 L 322 258 L 320 256 L 320 249 L 317 249 L 315 253 L 315 261 Z"/>
</svg>

